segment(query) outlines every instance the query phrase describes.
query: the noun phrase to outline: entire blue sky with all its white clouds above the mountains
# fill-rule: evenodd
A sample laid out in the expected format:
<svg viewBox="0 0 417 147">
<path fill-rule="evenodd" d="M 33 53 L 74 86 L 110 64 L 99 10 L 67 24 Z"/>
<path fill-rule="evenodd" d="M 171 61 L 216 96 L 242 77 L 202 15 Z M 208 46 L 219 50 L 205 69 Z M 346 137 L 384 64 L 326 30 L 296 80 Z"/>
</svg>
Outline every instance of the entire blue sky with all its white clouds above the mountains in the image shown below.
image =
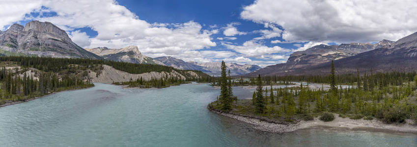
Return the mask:
<svg viewBox="0 0 417 147">
<path fill-rule="evenodd" d="M 83 48 L 265 67 L 315 45 L 395 41 L 417 31 L 415 13 L 394 0 L 19 0 L 2 2 L 0 28 L 48 21 Z"/>
</svg>

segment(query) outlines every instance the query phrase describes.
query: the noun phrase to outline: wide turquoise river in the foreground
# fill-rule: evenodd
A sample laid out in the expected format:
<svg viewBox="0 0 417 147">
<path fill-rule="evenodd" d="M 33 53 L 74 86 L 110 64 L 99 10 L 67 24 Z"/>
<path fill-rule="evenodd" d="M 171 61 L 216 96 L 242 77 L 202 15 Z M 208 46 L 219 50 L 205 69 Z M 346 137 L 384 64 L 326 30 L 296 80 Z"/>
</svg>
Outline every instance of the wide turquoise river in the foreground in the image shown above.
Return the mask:
<svg viewBox="0 0 417 147">
<path fill-rule="evenodd" d="M 219 89 L 122 89 L 96 83 L 0 107 L 1 147 L 416 147 L 416 134 L 306 129 L 275 134 L 210 113 Z M 240 95 L 251 92 L 235 88 Z M 244 94 L 241 94 L 244 93 Z"/>
</svg>

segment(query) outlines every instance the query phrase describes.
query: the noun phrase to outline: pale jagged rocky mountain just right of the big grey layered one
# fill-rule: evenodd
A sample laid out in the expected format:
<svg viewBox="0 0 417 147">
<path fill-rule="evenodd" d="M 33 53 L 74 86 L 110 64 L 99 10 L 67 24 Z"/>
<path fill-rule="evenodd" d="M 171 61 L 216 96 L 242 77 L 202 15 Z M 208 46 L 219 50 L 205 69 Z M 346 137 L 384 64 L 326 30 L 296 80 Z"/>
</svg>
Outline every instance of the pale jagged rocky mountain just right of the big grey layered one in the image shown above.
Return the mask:
<svg viewBox="0 0 417 147">
<path fill-rule="evenodd" d="M 121 49 L 109 49 L 106 47 L 86 49 L 96 55 L 99 55 L 107 60 L 130 62 L 130 63 L 142 63 L 142 64 L 159 64 L 165 65 L 164 63 L 154 60 L 151 57 L 147 57 L 140 53 L 137 46 L 129 46 Z"/>
</svg>

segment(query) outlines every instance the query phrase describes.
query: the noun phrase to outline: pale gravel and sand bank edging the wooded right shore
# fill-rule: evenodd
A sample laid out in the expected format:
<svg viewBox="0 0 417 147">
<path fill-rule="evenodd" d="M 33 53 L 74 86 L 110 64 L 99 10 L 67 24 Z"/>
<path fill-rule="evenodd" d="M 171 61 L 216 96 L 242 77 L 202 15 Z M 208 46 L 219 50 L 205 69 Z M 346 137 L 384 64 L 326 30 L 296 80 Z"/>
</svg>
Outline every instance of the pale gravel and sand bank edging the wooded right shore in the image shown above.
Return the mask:
<svg viewBox="0 0 417 147">
<path fill-rule="evenodd" d="M 262 121 L 256 118 L 250 118 L 246 116 L 222 113 L 215 110 L 210 110 L 214 113 L 226 116 L 238 121 L 245 123 L 250 123 L 254 126 L 255 129 L 273 133 L 285 133 L 292 132 L 299 129 L 307 128 L 318 128 L 326 127 L 329 129 L 348 129 L 348 130 L 365 130 L 365 131 L 389 131 L 389 132 L 407 132 L 407 133 L 417 133 L 417 125 L 413 125 L 411 121 L 407 121 L 404 124 L 386 124 L 376 119 L 367 121 L 367 120 L 351 120 L 349 118 L 341 118 L 338 115 L 335 115 L 335 119 L 332 122 L 323 122 L 318 118 L 315 118 L 313 121 L 300 121 L 299 123 L 289 123 L 289 124 L 280 124 L 280 123 L 271 123 L 267 121 Z"/>
</svg>

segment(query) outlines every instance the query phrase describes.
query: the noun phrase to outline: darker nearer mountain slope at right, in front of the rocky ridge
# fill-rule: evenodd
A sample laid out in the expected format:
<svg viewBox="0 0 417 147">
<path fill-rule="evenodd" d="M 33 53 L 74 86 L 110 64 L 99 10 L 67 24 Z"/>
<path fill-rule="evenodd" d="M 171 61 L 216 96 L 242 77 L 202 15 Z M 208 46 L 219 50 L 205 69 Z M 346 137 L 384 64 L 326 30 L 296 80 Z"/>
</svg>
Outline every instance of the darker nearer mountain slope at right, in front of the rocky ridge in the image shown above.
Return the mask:
<svg viewBox="0 0 417 147">
<path fill-rule="evenodd" d="M 363 73 L 371 69 L 374 72 L 417 70 L 417 32 L 396 42 L 383 40 L 373 46 L 376 49 L 334 60 L 336 73 L 356 73 L 357 70 Z M 268 66 L 247 75 L 328 74 L 330 61 L 328 59 L 327 62 L 311 63 L 309 66 L 294 66 L 288 59 L 287 63 Z"/>
</svg>

